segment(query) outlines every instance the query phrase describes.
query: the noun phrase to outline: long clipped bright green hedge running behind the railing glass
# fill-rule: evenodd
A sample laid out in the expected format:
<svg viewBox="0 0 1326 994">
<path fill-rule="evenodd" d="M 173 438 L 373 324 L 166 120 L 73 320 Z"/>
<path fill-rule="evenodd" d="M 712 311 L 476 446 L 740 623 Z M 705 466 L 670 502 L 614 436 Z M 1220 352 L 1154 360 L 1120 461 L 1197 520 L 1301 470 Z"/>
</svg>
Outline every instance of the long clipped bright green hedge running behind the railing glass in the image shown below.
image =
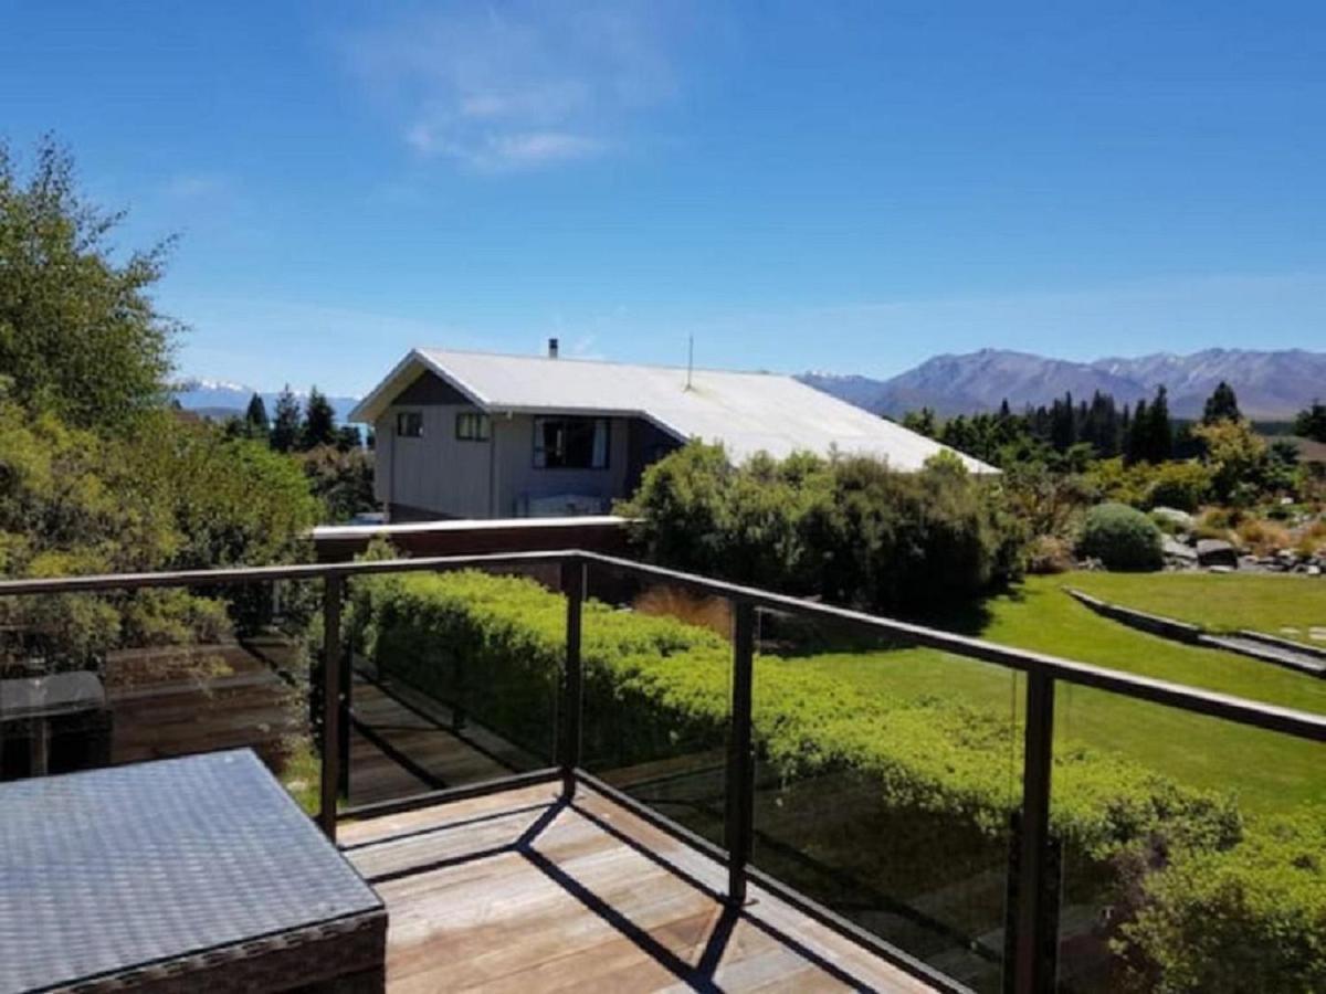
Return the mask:
<svg viewBox="0 0 1326 994">
<path fill-rule="evenodd" d="M 561 596 L 479 573 L 361 582 L 350 612 L 357 648 L 385 672 L 463 698 L 484 724 L 536 750 L 548 749 L 564 624 Z M 589 765 L 627 766 L 724 741 L 731 648 L 721 637 L 591 600 L 582 655 Z M 867 696 L 762 656 L 754 733 L 765 767 L 786 783 L 843 771 L 866 778 L 899 815 L 891 831 L 943 823 L 955 839 L 965 832 L 989 843 L 1018 802 L 1009 775 L 1021 767 L 1018 729 L 948 701 Z M 1303 828 L 1311 822 L 1248 824 L 1229 797 L 1077 745 L 1057 747 L 1054 775 L 1054 830 L 1069 865 L 1113 880 L 1131 918 L 1118 932 L 1119 952 L 1146 986 L 1220 989 L 1225 961 L 1211 945 L 1212 920 L 1227 937 L 1221 949 L 1229 937 L 1254 937 L 1261 989 L 1326 985 L 1319 827 L 1314 835 Z M 1238 987 L 1236 977 L 1223 982 Z"/>
</svg>

